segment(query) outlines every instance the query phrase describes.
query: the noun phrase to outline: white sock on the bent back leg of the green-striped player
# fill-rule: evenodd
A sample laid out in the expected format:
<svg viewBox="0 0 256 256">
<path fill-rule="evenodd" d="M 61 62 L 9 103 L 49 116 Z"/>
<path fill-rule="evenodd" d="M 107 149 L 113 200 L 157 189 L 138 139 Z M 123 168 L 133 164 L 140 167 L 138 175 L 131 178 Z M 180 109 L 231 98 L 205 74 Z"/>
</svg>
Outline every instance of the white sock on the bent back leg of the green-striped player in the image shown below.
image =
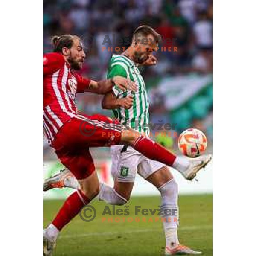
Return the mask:
<svg viewBox="0 0 256 256">
<path fill-rule="evenodd" d="M 115 205 L 123 205 L 126 204 L 128 201 L 119 195 L 115 189 L 111 188 L 110 186 L 101 183 L 99 189 L 98 198 L 100 201 L 105 201 L 108 204 L 115 204 Z"/>
</svg>

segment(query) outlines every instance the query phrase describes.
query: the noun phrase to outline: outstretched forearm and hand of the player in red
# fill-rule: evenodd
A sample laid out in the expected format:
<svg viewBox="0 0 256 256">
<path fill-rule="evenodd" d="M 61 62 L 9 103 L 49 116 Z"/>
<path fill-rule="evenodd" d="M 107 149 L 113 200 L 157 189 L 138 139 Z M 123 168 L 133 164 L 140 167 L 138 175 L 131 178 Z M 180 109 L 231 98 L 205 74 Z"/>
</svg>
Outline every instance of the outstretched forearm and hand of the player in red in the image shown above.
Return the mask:
<svg viewBox="0 0 256 256">
<path fill-rule="evenodd" d="M 130 79 L 126 79 L 122 76 L 115 76 L 111 79 L 101 81 L 90 81 L 90 85 L 85 89 L 87 92 L 105 94 L 112 90 L 113 86 L 116 85 L 122 91 L 131 90 L 136 91 L 137 85 Z"/>
</svg>

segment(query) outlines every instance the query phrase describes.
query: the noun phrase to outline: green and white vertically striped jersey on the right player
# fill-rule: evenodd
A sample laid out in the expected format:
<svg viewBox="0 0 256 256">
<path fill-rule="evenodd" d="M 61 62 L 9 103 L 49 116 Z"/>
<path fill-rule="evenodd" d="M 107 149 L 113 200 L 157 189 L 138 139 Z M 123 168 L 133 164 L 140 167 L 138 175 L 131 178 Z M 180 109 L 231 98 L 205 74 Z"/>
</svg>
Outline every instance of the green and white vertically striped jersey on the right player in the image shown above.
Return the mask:
<svg viewBox="0 0 256 256">
<path fill-rule="evenodd" d="M 134 95 L 134 103 L 130 109 L 118 108 L 113 110 L 115 117 L 123 125 L 129 126 L 136 131 L 149 136 L 149 113 L 148 113 L 148 96 L 145 88 L 143 77 L 140 74 L 137 65 L 124 55 L 114 54 L 108 66 L 108 79 L 114 76 L 123 76 L 134 81 L 137 86 L 137 92 L 128 90 L 123 92 L 118 87 L 113 87 L 113 93 L 118 98 L 124 98 L 129 94 Z M 143 124 L 146 124 L 145 126 Z"/>
</svg>

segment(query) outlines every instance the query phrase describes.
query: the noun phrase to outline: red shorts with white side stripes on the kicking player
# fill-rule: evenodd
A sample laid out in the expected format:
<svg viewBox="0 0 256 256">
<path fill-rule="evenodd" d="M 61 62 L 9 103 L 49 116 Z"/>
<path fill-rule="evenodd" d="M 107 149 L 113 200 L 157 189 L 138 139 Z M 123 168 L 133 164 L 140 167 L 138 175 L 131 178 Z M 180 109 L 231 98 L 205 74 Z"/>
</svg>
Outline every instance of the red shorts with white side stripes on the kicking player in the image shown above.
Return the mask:
<svg viewBox="0 0 256 256">
<path fill-rule="evenodd" d="M 77 115 L 58 131 L 52 147 L 61 163 L 78 180 L 95 171 L 90 147 L 105 147 L 119 144 L 121 124 L 103 115 Z"/>
</svg>

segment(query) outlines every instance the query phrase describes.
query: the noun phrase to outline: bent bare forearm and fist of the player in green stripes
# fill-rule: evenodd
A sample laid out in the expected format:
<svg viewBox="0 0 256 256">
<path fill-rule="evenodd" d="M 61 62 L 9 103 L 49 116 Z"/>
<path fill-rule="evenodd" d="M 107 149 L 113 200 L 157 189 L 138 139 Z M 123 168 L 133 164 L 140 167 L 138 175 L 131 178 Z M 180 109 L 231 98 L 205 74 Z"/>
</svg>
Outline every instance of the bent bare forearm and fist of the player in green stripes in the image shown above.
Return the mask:
<svg viewBox="0 0 256 256">
<path fill-rule="evenodd" d="M 113 91 L 108 92 L 104 95 L 102 99 L 102 108 L 103 109 L 116 109 L 116 108 L 125 108 L 129 109 L 133 105 L 133 96 L 128 95 L 125 98 L 117 98 Z"/>
</svg>

